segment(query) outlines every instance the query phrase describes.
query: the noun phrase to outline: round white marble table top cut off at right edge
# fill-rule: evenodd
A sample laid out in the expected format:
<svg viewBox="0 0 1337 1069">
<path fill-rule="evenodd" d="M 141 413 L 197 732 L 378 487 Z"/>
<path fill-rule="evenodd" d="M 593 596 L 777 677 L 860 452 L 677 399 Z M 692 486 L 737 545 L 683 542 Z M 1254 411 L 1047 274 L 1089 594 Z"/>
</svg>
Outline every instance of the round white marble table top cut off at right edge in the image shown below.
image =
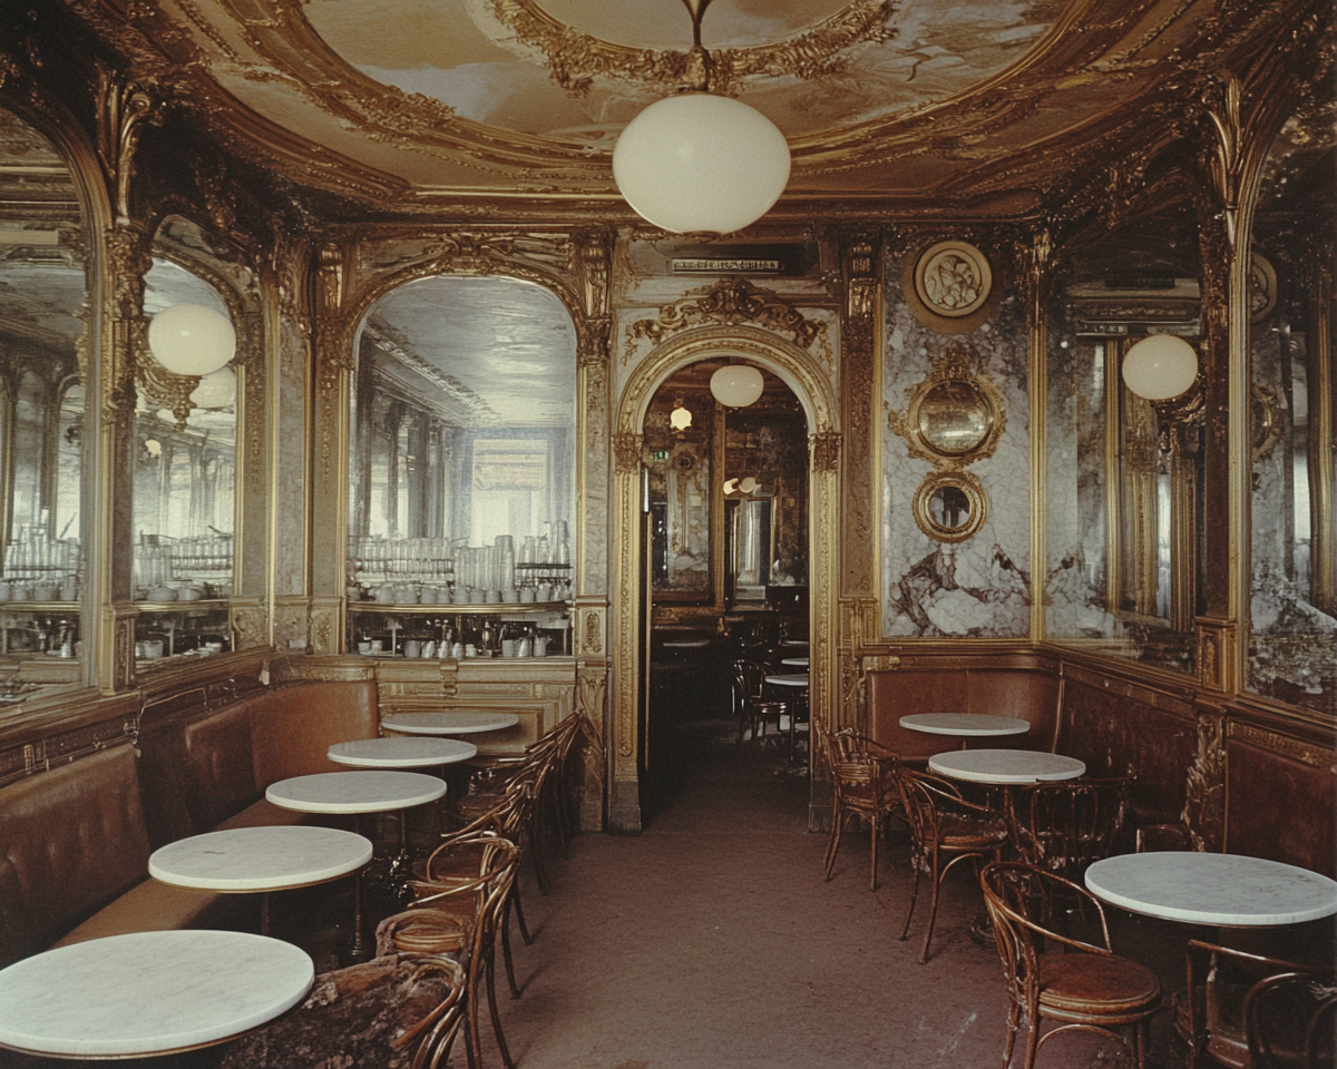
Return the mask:
<svg viewBox="0 0 1337 1069">
<path fill-rule="evenodd" d="M 1119 854 L 1087 869 L 1086 885 L 1126 910 L 1199 925 L 1267 927 L 1337 913 L 1337 882 L 1243 854 Z"/>
</svg>

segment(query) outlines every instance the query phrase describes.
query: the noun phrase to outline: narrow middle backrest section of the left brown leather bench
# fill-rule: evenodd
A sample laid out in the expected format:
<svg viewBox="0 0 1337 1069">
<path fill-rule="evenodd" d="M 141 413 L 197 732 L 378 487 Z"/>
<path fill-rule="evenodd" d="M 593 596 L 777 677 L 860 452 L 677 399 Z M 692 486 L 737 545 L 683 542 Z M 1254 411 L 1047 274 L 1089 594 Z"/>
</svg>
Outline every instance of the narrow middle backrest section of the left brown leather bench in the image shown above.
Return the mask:
<svg viewBox="0 0 1337 1069">
<path fill-rule="evenodd" d="M 189 720 L 186 744 L 186 808 L 191 832 L 211 830 L 261 796 L 253 763 L 251 720 L 246 702 Z"/>
</svg>

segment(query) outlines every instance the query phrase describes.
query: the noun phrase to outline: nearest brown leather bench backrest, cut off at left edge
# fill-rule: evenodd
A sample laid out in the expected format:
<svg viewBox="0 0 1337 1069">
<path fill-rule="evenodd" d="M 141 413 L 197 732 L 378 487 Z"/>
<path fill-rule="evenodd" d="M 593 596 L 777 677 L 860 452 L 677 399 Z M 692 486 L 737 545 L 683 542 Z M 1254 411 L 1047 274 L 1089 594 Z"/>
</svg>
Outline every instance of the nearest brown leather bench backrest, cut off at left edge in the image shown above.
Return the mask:
<svg viewBox="0 0 1337 1069">
<path fill-rule="evenodd" d="M 0 790 L 0 965 L 45 949 L 142 881 L 148 853 L 128 744 Z"/>
</svg>

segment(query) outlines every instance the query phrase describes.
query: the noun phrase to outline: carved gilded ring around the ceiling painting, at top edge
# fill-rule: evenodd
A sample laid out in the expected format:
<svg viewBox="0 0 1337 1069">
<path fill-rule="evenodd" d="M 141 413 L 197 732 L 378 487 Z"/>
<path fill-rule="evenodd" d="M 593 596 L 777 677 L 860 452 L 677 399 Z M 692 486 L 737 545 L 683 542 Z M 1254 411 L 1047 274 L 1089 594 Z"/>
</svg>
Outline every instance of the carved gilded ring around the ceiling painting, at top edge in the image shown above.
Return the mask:
<svg viewBox="0 0 1337 1069">
<path fill-rule="evenodd" d="M 575 96 L 588 94 L 595 78 L 630 82 L 656 96 L 707 87 L 722 96 L 737 96 L 743 78 L 812 80 L 840 73 L 849 65 L 842 55 L 848 49 L 896 37 L 897 31 L 888 23 L 900 0 L 853 0 L 787 40 L 751 48 L 711 48 L 709 53 L 699 47 L 677 51 L 606 41 L 562 23 L 536 0 L 491 0 L 488 7 L 516 40 L 543 55 L 554 82 Z"/>
</svg>

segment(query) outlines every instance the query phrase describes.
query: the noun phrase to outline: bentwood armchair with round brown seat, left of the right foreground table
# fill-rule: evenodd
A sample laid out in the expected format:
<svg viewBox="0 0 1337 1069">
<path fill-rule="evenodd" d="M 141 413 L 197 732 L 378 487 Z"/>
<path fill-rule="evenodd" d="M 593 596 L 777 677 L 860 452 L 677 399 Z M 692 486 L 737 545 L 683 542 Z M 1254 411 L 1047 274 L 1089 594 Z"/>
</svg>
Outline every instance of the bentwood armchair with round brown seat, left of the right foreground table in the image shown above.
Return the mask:
<svg viewBox="0 0 1337 1069">
<path fill-rule="evenodd" d="M 1012 1062 L 1016 1033 L 1028 1029 L 1021 1069 L 1032 1069 L 1040 1048 L 1066 1032 L 1096 1032 L 1118 1040 L 1138 1069 L 1146 1066 L 1147 1022 L 1161 1006 L 1155 973 L 1122 958 L 1110 946 L 1100 902 L 1072 881 L 1021 862 L 993 862 L 980 874 L 984 905 L 1008 989 L 1003 1066 Z M 1099 942 L 1048 927 L 1055 901 L 1083 902 Z M 1056 1024 L 1043 1036 L 1046 1022 Z M 1130 1028 L 1132 1040 L 1115 1032 Z M 1066 1062 L 1052 1062 L 1062 1065 Z"/>
</svg>

